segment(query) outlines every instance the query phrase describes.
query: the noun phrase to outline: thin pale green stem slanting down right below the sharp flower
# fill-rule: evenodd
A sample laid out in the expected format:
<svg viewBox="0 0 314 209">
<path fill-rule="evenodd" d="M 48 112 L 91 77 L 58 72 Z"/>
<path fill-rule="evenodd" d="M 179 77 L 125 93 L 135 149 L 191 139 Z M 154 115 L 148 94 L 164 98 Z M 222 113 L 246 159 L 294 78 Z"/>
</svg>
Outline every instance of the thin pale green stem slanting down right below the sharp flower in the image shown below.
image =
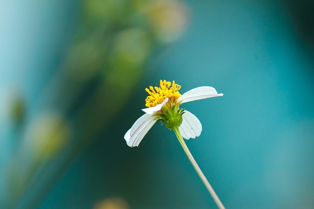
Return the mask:
<svg viewBox="0 0 314 209">
<path fill-rule="evenodd" d="M 219 197 L 217 196 L 216 192 L 214 191 L 214 189 L 210 186 L 208 180 L 206 179 L 205 175 L 203 174 L 201 168 L 198 166 L 198 164 L 196 163 L 196 161 L 194 160 L 191 152 L 189 151 L 189 149 L 187 148 L 184 139 L 182 138 L 182 135 L 179 131 L 179 127 L 175 127 L 173 128 L 177 138 L 179 139 L 179 142 L 185 152 L 185 154 L 187 155 L 188 159 L 190 160 L 190 162 L 192 163 L 193 167 L 195 168 L 196 172 L 198 173 L 198 175 L 200 176 L 201 180 L 203 181 L 204 185 L 206 186 L 207 190 L 209 191 L 210 195 L 212 196 L 212 198 L 214 199 L 215 203 L 217 204 L 219 209 L 225 209 L 224 205 L 222 204 L 222 202 L 220 201 Z"/>
</svg>

